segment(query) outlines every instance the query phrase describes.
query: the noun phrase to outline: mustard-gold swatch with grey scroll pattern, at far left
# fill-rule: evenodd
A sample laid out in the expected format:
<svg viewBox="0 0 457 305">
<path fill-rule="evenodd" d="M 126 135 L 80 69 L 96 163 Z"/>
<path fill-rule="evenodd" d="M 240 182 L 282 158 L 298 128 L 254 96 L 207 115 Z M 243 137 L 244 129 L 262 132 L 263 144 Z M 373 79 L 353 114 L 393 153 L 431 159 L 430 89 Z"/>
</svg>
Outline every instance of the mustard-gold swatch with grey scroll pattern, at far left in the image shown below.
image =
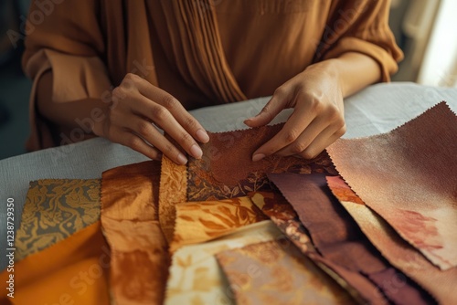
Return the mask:
<svg viewBox="0 0 457 305">
<path fill-rule="evenodd" d="M 100 180 L 30 182 L 16 232 L 16 260 L 64 240 L 99 220 Z"/>
</svg>

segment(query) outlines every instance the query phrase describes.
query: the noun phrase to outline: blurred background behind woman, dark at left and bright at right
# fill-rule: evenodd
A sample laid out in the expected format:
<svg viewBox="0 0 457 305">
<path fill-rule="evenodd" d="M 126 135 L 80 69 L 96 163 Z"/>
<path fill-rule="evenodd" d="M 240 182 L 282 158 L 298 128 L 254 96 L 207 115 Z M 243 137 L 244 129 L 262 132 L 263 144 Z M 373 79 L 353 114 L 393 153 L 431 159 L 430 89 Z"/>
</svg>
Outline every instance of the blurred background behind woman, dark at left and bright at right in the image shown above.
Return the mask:
<svg viewBox="0 0 457 305">
<path fill-rule="evenodd" d="M 31 1 L 0 0 L 0 159 L 27 153 L 31 81 L 20 59 Z M 455 12 L 457 0 L 391 0 L 390 27 L 405 53 L 393 81 L 457 87 Z"/>
</svg>

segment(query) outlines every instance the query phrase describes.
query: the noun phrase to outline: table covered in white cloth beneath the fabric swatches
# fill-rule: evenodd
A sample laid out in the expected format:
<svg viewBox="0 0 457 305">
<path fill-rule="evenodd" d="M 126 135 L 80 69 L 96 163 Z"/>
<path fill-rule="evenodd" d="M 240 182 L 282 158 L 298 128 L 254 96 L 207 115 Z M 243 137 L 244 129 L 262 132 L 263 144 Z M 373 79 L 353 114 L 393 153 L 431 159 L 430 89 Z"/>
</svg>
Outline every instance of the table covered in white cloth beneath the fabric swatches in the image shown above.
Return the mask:
<svg viewBox="0 0 457 305">
<path fill-rule="evenodd" d="M 246 129 L 243 121 L 257 114 L 268 97 L 192 110 L 208 131 Z M 345 100 L 347 131 L 344 138 L 364 137 L 390 131 L 446 100 L 457 112 L 457 88 L 444 89 L 414 83 L 377 84 Z M 274 122 L 285 121 L 284 110 Z M 6 267 L 6 203 L 15 202 L 15 228 L 26 201 L 28 184 L 37 179 L 93 179 L 113 167 L 147 160 L 140 153 L 105 139 L 26 153 L 0 161 L 0 270 Z"/>
</svg>

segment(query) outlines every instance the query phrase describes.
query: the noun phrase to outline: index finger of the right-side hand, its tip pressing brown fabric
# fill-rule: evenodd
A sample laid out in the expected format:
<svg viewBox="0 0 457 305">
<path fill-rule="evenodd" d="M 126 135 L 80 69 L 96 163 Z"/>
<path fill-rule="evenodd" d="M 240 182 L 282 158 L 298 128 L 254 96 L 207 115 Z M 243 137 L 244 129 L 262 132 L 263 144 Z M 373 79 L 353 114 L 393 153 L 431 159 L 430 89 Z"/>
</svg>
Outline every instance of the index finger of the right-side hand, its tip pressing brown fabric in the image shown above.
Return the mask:
<svg viewBox="0 0 457 305">
<path fill-rule="evenodd" d="M 291 117 L 284 124 L 282 130 L 252 154 L 252 161 L 260 161 L 264 157 L 281 151 L 284 147 L 295 142 L 305 128 L 314 120 L 315 115 L 306 112 L 305 107 L 297 107 L 293 110 Z"/>
</svg>

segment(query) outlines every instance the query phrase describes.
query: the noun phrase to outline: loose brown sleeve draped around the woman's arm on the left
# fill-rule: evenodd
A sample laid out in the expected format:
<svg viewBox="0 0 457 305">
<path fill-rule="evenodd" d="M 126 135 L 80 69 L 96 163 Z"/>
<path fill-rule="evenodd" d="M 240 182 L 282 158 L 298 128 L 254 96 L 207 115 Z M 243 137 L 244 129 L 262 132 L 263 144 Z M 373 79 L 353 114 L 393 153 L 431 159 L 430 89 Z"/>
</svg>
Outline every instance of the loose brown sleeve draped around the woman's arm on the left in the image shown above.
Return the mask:
<svg viewBox="0 0 457 305">
<path fill-rule="evenodd" d="M 56 136 L 58 128 L 37 110 L 37 83 L 45 73 L 52 71 L 52 100 L 58 103 L 100 100 L 103 92 L 111 87 L 102 60 L 105 49 L 97 18 L 98 5 L 97 1 L 69 0 L 48 6 L 44 12 L 36 1 L 31 3 L 26 50 L 22 58 L 24 71 L 33 80 L 29 108 L 31 136 L 27 142 L 29 151 L 61 143 Z M 35 20 L 34 16 L 39 14 L 44 17 Z M 41 22 L 38 24 L 37 21 Z"/>
</svg>

